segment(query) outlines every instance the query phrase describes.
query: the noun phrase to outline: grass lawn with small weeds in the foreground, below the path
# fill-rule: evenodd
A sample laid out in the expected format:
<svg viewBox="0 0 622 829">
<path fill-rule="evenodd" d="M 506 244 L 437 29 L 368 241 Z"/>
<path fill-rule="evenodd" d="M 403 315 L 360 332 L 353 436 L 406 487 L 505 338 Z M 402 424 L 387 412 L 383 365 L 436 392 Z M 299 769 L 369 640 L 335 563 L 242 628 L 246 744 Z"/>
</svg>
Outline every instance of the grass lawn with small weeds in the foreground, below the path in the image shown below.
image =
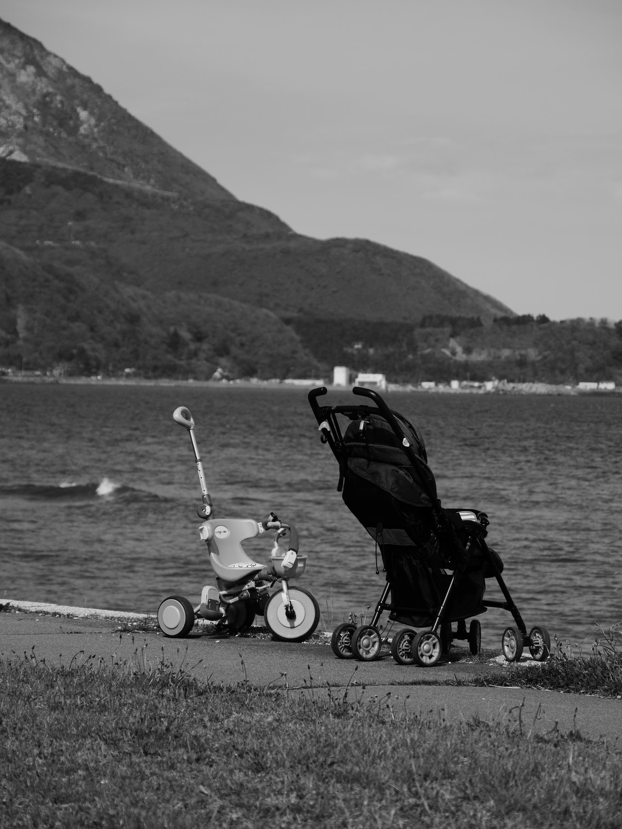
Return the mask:
<svg viewBox="0 0 622 829">
<path fill-rule="evenodd" d="M 144 649 L 122 664 L 2 663 L 0 769 L 0 827 L 622 822 L 622 757 L 577 733 L 421 719 L 352 687 L 223 688 Z"/>
</svg>

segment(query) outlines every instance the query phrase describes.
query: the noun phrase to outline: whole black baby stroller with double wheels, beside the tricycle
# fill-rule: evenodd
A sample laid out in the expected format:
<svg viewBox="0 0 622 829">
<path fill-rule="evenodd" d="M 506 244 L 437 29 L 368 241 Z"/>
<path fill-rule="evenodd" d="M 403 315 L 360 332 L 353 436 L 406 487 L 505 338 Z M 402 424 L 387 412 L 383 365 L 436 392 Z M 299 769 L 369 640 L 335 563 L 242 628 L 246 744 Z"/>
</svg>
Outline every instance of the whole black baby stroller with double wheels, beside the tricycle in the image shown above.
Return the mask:
<svg viewBox="0 0 622 829">
<path fill-rule="evenodd" d="M 331 645 L 341 659 L 366 661 L 380 656 L 383 611 L 391 622 L 406 624 L 391 639 L 391 655 L 401 665 L 432 666 L 454 640 L 479 653 L 479 620 L 468 618 L 488 608 L 512 613 L 515 625 L 503 631 L 508 662 L 529 647 L 532 658 L 547 659 L 551 640 L 542 625 L 527 628 L 501 576 L 503 562 L 486 544 L 488 516 L 474 509 L 444 509 L 427 465 L 425 445 L 415 426 L 392 411 L 376 391 L 355 387 L 355 395 L 376 405 L 320 406 L 326 388 L 309 392 L 321 439 L 339 464 L 338 492 L 380 550 L 386 584 L 371 624 L 344 623 Z M 342 432 L 339 416 L 350 421 Z M 377 561 L 377 559 L 376 559 Z M 378 566 L 376 564 L 376 571 Z M 497 579 L 505 601 L 485 601 L 486 579 Z M 391 600 L 389 600 L 391 594 Z M 454 629 L 453 623 L 456 623 Z M 424 628 L 417 633 L 415 628 Z"/>
</svg>

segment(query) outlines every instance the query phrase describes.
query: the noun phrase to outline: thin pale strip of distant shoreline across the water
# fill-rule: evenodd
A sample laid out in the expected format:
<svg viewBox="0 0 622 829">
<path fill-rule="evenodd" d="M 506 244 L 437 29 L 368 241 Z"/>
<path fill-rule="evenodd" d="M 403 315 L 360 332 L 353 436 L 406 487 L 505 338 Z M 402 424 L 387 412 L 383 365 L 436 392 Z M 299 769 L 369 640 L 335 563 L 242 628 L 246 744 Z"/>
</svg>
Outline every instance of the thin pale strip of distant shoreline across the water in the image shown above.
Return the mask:
<svg viewBox="0 0 622 829">
<path fill-rule="evenodd" d="M 199 388 L 199 389 L 275 389 L 275 390 L 299 390 L 309 391 L 317 388 L 318 385 L 326 385 L 329 391 L 347 391 L 351 386 L 343 385 L 327 385 L 323 381 L 318 380 L 317 385 L 312 383 L 288 383 L 285 381 L 211 381 L 211 380 L 172 380 L 168 378 L 145 379 L 140 377 L 132 377 L 126 379 L 122 377 L 102 377 L 100 380 L 92 377 L 44 377 L 44 376 L 0 376 L 0 383 L 7 384 L 27 384 L 27 385 L 114 385 L 114 386 L 159 386 L 170 388 Z M 610 390 L 598 389 L 579 389 L 577 386 L 555 385 L 552 383 L 508 383 L 506 385 L 498 385 L 494 389 L 484 388 L 459 388 L 452 389 L 449 385 L 437 385 L 432 389 L 422 389 L 411 384 L 397 384 L 389 383 L 385 390 L 385 394 L 392 395 L 395 393 L 415 393 L 420 395 L 550 395 L 550 396 L 598 396 L 610 397 L 611 395 L 620 395 L 622 387 Z"/>
</svg>

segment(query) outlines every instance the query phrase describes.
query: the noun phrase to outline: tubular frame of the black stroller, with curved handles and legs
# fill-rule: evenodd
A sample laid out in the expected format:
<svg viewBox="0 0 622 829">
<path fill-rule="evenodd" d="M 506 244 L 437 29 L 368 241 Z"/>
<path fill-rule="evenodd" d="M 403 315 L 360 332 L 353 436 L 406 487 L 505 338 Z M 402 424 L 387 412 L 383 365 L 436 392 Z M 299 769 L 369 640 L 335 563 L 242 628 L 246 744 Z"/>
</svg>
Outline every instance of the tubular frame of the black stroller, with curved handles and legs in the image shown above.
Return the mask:
<svg viewBox="0 0 622 829">
<path fill-rule="evenodd" d="M 435 533 L 439 533 L 441 536 L 444 536 L 445 541 L 449 542 L 450 548 L 450 555 L 452 555 L 454 559 L 454 572 L 451 576 L 451 580 L 449 583 L 449 588 L 445 593 L 445 597 L 440 601 L 434 609 L 433 613 L 430 614 L 430 608 L 415 608 L 415 607 L 398 607 L 395 603 L 390 603 L 387 601 L 389 592 L 391 590 L 391 584 L 389 582 L 389 577 L 387 574 L 386 584 L 384 589 L 382 590 L 382 594 L 380 599 L 376 604 L 376 608 L 374 609 L 373 617 L 372 617 L 372 624 L 370 628 L 377 628 L 377 625 L 380 621 L 381 614 L 383 611 L 388 610 L 391 612 L 402 612 L 408 613 L 411 616 L 424 616 L 430 615 L 434 618 L 434 623 L 430 628 L 430 633 L 434 633 L 437 636 L 440 634 L 440 638 L 445 638 L 445 642 L 443 642 L 444 647 L 443 650 L 449 650 L 449 646 L 451 644 L 452 639 L 469 639 L 469 645 L 471 644 L 470 638 L 466 633 L 466 625 L 464 620 L 459 620 L 458 623 L 458 631 L 457 633 L 451 632 L 450 623 L 448 623 L 447 616 L 448 616 L 448 608 L 450 606 L 452 597 L 454 596 L 456 590 L 459 588 L 459 584 L 462 582 L 464 578 L 465 571 L 469 565 L 470 555 L 469 549 L 472 545 L 472 541 L 477 538 L 478 541 L 478 548 L 481 551 L 481 554 L 484 555 L 484 560 L 486 561 L 489 569 L 492 571 L 495 579 L 497 579 L 497 583 L 499 588 L 501 589 L 504 597 L 504 601 L 494 601 L 494 600 L 482 600 L 482 604 L 484 608 L 501 608 L 503 610 L 509 611 L 512 614 L 514 622 L 516 623 L 516 628 L 506 628 L 506 631 L 503 633 L 503 652 L 505 653 L 506 659 L 509 662 L 513 662 L 516 659 L 519 659 L 522 654 L 522 647 L 527 646 L 533 652 L 535 651 L 537 655 L 540 655 L 541 659 L 546 659 L 549 655 L 550 651 L 550 639 L 548 637 L 548 633 L 546 628 L 542 628 L 542 626 L 538 628 L 532 628 L 531 633 L 527 634 L 527 627 L 522 619 L 521 614 L 518 611 L 518 607 L 516 606 L 512 595 L 508 590 L 508 586 L 505 584 L 501 572 L 498 568 L 497 561 L 495 557 L 492 555 L 491 551 L 488 548 L 484 541 L 483 535 L 485 535 L 485 527 L 488 526 L 488 517 L 484 512 L 469 510 L 468 512 L 474 513 L 477 516 L 477 523 L 474 521 L 464 521 L 463 528 L 467 530 L 468 533 L 468 541 L 465 545 L 460 541 L 454 523 L 449 518 L 450 513 L 458 513 L 458 510 L 447 510 L 440 505 L 440 499 L 436 495 L 435 488 L 430 486 L 428 481 L 428 470 L 426 465 L 421 462 L 418 454 L 415 452 L 415 449 L 411 446 L 411 442 L 409 439 L 406 438 L 406 435 L 401 429 L 398 420 L 396 419 L 393 412 L 389 409 L 386 405 L 386 402 L 382 399 L 381 395 L 372 389 L 367 389 L 361 386 L 355 386 L 352 389 L 354 395 L 358 395 L 360 397 L 367 397 L 375 403 L 375 406 L 369 405 L 319 405 L 318 398 L 326 395 L 328 390 L 325 386 L 320 388 L 312 389 L 309 391 L 309 404 L 311 405 L 311 409 L 313 410 L 313 414 L 318 421 L 319 424 L 319 431 L 321 433 L 321 440 L 323 443 L 328 443 L 328 446 L 333 451 L 335 458 L 337 458 L 339 463 L 339 470 L 340 470 L 340 477 L 338 483 L 338 491 L 341 491 L 343 487 L 343 478 L 344 472 L 347 468 L 346 460 L 347 460 L 347 452 L 343 440 L 343 434 L 338 423 L 337 415 L 341 414 L 347 417 L 350 420 L 355 419 L 364 419 L 370 414 L 380 415 L 380 417 L 386 420 L 386 423 L 390 426 L 392 432 L 395 434 L 398 443 L 401 445 L 402 451 L 404 452 L 407 461 L 411 463 L 411 466 L 415 469 L 415 471 L 419 474 L 420 478 L 420 485 L 425 492 L 425 495 L 430 500 L 430 510 L 432 516 L 432 522 Z M 405 458 L 405 459 L 406 459 Z M 466 510 L 464 512 L 467 512 Z M 448 514 L 449 513 L 449 514 Z M 473 524 L 473 532 L 471 533 L 470 527 L 464 525 Z M 483 532 L 484 530 L 484 532 Z M 481 611 L 480 611 L 481 612 Z M 447 631 L 447 627 L 449 624 L 449 632 Z M 474 623 L 472 623 L 473 625 Z M 476 623 L 477 628 L 479 630 L 479 622 Z M 445 628 L 445 630 L 443 629 Z M 359 631 L 360 628 L 357 628 Z M 352 643 L 354 639 L 354 633 L 352 633 Z M 508 632 L 513 631 L 513 634 L 509 635 L 509 638 L 514 638 L 515 642 L 506 642 L 508 639 Z M 414 633 L 414 632 L 413 632 Z M 449 637 L 449 642 L 447 639 Z M 510 647 L 506 647 L 506 644 L 509 644 Z M 346 651 L 349 642 L 345 642 Z M 514 645 L 514 647 L 513 647 Z M 333 650 L 337 653 L 338 656 L 347 658 L 347 652 L 338 653 L 337 650 L 333 647 Z M 377 658 L 379 646 L 377 648 L 372 647 L 370 651 L 370 655 L 365 654 L 365 647 L 362 648 L 354 648 L 357 652 L 353 655 L 358 658 Z M 471 646 L 471 652 L 478 652 L 479 651 L 479 643 L 476 649 L 474 649 L 473 645 Z M 396 653 L 393 653 L 394 657 L 396 657 Z M 535 656 L 534 658 L 538 658 Z M 401 659 L 397 659 L 396 661 L 402 662 Z M 417 661 L 415 659 L 415 661 Z M 436 660 L 437 661 L 437 660 Z M 403 664 L 410 664 L 411 660 L 406 660 Z M 434 664 L 435 662 L 420 662 L 420 664 Z"/>
</svg>

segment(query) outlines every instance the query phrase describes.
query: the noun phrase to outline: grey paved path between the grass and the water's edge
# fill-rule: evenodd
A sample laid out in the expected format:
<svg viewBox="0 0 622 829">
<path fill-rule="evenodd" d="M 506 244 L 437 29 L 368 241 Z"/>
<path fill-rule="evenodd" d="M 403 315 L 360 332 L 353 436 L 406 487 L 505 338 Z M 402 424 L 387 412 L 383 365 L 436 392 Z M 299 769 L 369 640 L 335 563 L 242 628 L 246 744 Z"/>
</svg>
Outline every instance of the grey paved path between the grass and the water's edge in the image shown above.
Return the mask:
<svg viewBox="0 0 622 829">
<path fill-rule="evenodd" d="M 394 710 L 441 717 L 447 721 L 500 719 L 516 722 L 524 733 L 558 728 L 578 729 L 584 737 L 607 739 L 622 750 L 622 702 L 552 691 L 506 687 L 442 686 L 453 679 L 465 681 L 486 675 L 490 681 L 507 668 L 498 664 L 464 662 L 454 655 L 449 663 L 433 668 L 397 665 L 387 653 L 378 662 L 336 659 L 326 642 L 274 642 L 266 638 L 214 638 L 204 634 L 185 640 L 160 633 L 124 633 L 119 619 L 58 618 L 32 613 L 0 613 L 0 658 L 23 658 L 24 652 L 45 657 L 48 664 L 72 659 L 132 662 L 147 659 L 182 664 L 193 674 L 220 683 L 247 678 L 260 686 L 287 687 L 292 693 L 330 693 L 348 699 L 354 695 L 366 704 L 377 698 Z M 242 664 L 244 662 L 244 664 Z M 355 670 L 356 669 L 356 670 Z M 363 687 L 364 686 L 364 687 Z M 523 704 L 524 703 L 524 704 Z"/>
</svg>

